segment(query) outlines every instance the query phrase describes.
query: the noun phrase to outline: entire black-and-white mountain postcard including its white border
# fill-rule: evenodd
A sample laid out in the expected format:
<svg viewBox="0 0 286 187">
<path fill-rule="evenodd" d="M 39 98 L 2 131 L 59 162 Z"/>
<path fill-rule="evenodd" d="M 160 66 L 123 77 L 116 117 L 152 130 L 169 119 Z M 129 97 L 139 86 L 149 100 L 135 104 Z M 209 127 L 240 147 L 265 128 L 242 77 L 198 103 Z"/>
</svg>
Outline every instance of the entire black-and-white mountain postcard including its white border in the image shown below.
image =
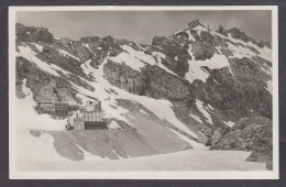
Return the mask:
<svg viewBox="0 0 286 187">
<path fill-rule="evenodd" d="M 13 179 L 278 178 L 277 7 L 10 7 Z"/>
</svg>

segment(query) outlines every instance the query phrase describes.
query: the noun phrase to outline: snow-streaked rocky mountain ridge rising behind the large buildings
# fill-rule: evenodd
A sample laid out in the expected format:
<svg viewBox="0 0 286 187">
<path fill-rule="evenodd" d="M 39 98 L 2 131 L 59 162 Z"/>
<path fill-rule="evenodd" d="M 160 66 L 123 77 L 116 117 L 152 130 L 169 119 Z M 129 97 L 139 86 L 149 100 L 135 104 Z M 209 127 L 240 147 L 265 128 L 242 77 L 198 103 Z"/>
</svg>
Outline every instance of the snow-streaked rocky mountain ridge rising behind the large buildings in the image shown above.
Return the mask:
<svg viewBox="0 0 286 187">
<path fill-rule="evenodd" d="M 125 103 L 119 100 L 143 105 L 154 116 L 158 109 L 143 100 L 158 107 L 167 101 L 176 122 L 167 114 L 158 118 L 213 147 L 219 147 L 218 129 L 230 131 L 242 118 L 272 119 L 271 44 L 238 29 L 212 31 L 197 20 L 169 36 L 155 36 L 151 45 L 111 36 L 56 38 L 47 29 L 16 24 L 18 98 L 25 97 L 24 79 L 35 101 L 100 98 L 109 118 L 131 127 L 135 122 L 119 113 Z M 124 109 L 132 112 L 130 105 Z"/>
</svg>

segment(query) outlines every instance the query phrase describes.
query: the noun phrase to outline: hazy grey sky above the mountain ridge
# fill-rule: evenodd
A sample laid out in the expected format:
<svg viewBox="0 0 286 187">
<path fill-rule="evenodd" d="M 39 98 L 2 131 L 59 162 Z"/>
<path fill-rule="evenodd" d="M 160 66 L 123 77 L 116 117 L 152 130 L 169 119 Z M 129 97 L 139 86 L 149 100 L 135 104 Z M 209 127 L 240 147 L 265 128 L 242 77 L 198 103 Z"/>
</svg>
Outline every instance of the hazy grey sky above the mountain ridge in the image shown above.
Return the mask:
<svg viewBox="0 0 286 187">
<path fill-rule="evenodd" d="M 271 41 L 270 10 L 231 11 L 19 11 L 16 22 L 47 28 L 56 37 L 79 40 L 107 36 L 151 44 L 154 36 L 168 36 L 199 20 L 212 30 L 238 28 L 256 40 Z"/>
</svg>

